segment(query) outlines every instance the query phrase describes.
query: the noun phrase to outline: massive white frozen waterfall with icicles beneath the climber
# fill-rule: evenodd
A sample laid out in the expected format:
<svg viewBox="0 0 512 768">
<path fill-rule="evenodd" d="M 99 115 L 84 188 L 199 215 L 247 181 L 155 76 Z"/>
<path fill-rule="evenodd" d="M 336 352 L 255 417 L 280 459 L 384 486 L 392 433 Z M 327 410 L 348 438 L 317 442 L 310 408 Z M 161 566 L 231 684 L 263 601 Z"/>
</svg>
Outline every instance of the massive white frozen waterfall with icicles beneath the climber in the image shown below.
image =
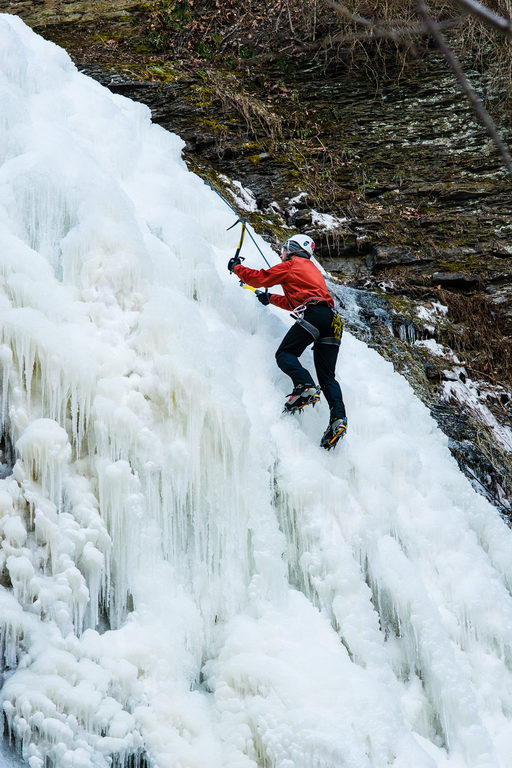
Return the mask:
<svg viewBox="0 0 512 768">
<path fill-rule="evenodd" d="M 506 768 L 512 536 L 426 408 L 345 333 L 344 443 L 318 446 L 325 403 L 282 417 L 291 319 L 229 275 L 233 213 L 181 140 L 17 17 L 0 40 L 1 695 L 24 760 Z"/>
</svg>

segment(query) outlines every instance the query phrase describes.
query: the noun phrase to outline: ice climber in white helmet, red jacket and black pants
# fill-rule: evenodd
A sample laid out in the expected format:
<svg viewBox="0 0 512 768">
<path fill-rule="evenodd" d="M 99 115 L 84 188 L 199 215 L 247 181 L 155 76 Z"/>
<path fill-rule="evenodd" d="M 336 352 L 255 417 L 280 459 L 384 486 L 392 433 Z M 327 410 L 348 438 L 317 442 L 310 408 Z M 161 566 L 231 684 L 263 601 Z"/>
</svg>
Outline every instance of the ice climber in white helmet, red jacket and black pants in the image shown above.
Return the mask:
<svg viewBox="0 0 512 768">
<path fill-rule="evenodd" d="M 330 419 L 320 445 L 329 450 L 347 429 L 343 396 L 335 378 L 343 323 L 320 270 L 310 261 L 314 250 L 310 237 L 293 235 L 281 249 L 281 264 L 270 269 L 249 269 L 242 266 L 237 254 L 229 260 L 228 269 L 253 288 L 282 286 L 284 296 L 266 291 L 256 292 L 256 296 L 265 306 L 273 304 L 291 310 L 292 317 L 296 318 L 276 352 L 279 368 L 293 381 L 293 392 L 287 396 L 285 411 L 294 413 L 306 405 L 315 405 L 321 388 L 329 404 Z M 298 359 L 311 343 L 320 387 Z"/>
</svg>

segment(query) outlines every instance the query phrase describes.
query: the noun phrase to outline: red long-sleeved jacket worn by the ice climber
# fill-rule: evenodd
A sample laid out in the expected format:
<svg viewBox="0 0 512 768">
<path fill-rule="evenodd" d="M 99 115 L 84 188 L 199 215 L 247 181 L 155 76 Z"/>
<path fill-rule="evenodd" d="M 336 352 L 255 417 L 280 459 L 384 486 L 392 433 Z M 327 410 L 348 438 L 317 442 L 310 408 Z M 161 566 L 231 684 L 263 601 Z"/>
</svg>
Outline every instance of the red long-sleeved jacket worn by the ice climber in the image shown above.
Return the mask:
<svg viewBox="0 0 512 768">
<path fill-rule="evenodd" d="M 317 299 L 334 306 L 331 294 L 327 290 L 325 280 L 320 270 L 312 261 L 300 256 L 294 256 L 289 261 L 283 261 L 270 269 L 249 269 L 238 264 L 233 272 L 240 280 L 253 288 L 270 288 L 281 285 L 284 296 L 278 293 L 270 294 L 270 303 L 281 309 L 293 310 L 306 301 Z M 312 304 L 316 303 L 311 301 Z"/>
</svg>

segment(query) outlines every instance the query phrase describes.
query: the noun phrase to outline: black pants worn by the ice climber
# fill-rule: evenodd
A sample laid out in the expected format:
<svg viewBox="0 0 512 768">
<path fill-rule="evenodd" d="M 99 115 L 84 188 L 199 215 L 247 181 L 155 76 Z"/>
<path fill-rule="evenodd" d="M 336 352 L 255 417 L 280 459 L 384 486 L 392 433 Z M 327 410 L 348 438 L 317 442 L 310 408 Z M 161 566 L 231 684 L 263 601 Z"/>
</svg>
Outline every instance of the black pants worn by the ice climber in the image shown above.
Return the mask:
<svg viewBox="0 0 512 768">
<path fill-rule="evenodd" d="M 345 404 L 341 394 L 341 387 L 335 379 L 336 360 L 338 359 L 339 346 L 335 344 L 323 344 L 322 338 L 332 338 L 334 314 L 327 304 L 313 304 L 304 312 L 304 320 L 320 332 L 320 338 L 313 346 L 313 360 L 318 376 L 318 383 L 329 404 L 331 418 L 345 418 Z M 298 358 L 306 347 L 313 343 L 313 336 L 299 323 L 295 323 L 276 352 L 276 362 L 279 368 L 286 373 L 293 385 L 307 384 L 314 386 L 311 374 L 300 363 Z"/>
</svg>

